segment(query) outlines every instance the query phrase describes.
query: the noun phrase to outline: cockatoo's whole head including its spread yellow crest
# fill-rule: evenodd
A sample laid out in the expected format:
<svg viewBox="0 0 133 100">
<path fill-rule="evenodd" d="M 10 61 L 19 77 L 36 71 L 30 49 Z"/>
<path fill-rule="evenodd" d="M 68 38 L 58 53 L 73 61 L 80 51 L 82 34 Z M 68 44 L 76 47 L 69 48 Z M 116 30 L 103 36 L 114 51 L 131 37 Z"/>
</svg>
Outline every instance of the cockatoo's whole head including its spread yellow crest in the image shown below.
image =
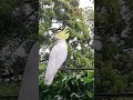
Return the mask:
<svg viewBox="0 0 133 100">
<path fill-rule="evenodd" d="M 58 40 L 65 40 L 65 39 L 68 39 L 69 38 L 69 33 L 68 33 L 68 30 L 66 30 L 68 28 L 65 27 L 64 28 L 64 30 L 63 31 L 60 31 L 59 33 L 57 33 L 55 36 L 54 36 L 54 38 L 55 39 L 58 39 Z"/>
</svg>

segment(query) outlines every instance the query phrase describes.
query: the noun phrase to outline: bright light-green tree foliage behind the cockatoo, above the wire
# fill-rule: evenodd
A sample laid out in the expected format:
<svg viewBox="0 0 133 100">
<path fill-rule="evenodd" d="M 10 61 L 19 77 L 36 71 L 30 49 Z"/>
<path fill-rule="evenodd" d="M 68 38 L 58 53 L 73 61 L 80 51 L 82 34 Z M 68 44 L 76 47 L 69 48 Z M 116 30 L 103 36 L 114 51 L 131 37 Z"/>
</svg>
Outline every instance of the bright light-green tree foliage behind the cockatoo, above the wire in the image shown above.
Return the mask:
<svg viewBox="0 0 133 100">
<path fill-rule="evenodd" d="M 43 3 L 40 6 L 39 26 L 41 47 L 53 44 L 53 36 L 60 28 L 53 28 L 52 24 L 60 22 L 62 23 L 61 28 L 68 26 L 70 32 L 70 38 L 66 40 L 69 56 L 63 67 L 93 68 L 93 52 L 89 46 L 91 40 L 89 37 L 90 31 L 89 26 L 85 23 L 84 16 L 82 14 L 83 10 L 78 6 L 73 6 L 73 0 L 41 0 L 40 2 Z M 74 39 L 76 40 L 71 42 Z M 81 49 L 79 49 L 79 47 Z"/>
</svg>

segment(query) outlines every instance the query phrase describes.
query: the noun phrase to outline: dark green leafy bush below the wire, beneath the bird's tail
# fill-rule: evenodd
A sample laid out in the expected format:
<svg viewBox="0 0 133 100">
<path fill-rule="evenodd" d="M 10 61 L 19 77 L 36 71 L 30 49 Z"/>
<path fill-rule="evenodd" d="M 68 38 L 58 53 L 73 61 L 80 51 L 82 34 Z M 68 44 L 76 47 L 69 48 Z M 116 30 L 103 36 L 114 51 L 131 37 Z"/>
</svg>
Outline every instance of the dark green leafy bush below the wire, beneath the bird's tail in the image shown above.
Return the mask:
<svg viewBox="0 0 133 100">
<path fill-rule="evenodd" d="M 59 72 L 52 86 L 45 86 L 40 76 L 40 100 L 93 100 L 94 72 L 69 74 Z"/>
</svg>

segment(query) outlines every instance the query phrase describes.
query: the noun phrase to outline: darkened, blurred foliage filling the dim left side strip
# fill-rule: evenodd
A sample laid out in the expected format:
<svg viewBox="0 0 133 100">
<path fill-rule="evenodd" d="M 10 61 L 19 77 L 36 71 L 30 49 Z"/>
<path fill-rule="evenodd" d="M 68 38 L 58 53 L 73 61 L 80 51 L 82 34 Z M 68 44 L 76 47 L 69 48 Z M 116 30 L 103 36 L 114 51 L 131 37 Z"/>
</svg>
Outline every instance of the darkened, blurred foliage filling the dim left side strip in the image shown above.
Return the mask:
<svg viewBox="0 0 133 100">
<path fill-rule="evenodd" d="M 17 96 L 20 90 L 28 54 L 38 39 L 35 8 L 35 1 L 0 0 L 0 96 Z"/>
</svg>

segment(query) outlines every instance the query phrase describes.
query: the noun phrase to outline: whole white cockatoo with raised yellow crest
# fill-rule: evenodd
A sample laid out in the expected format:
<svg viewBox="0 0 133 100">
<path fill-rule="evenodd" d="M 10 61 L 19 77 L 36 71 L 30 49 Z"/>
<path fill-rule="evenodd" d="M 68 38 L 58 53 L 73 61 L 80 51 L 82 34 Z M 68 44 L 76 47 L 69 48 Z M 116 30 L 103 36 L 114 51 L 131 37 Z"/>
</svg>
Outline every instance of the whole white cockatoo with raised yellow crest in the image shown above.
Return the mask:
<svg viewBox="0 0 133 100">
<path fill-rule="evenodd" d="M 55 34 L 54 38 L 57 39 L 57 44 L 52 48 L 50 52 L 44 78 L 44 83 L 48 86 L 52 83 L 54 76 L 57 74 L 58 70 L 63 64 L 68 56 L 68 44 L 65 39 L 69 38 L 69 33 L 66 27 L 63 31 Z"/>
</svg>

